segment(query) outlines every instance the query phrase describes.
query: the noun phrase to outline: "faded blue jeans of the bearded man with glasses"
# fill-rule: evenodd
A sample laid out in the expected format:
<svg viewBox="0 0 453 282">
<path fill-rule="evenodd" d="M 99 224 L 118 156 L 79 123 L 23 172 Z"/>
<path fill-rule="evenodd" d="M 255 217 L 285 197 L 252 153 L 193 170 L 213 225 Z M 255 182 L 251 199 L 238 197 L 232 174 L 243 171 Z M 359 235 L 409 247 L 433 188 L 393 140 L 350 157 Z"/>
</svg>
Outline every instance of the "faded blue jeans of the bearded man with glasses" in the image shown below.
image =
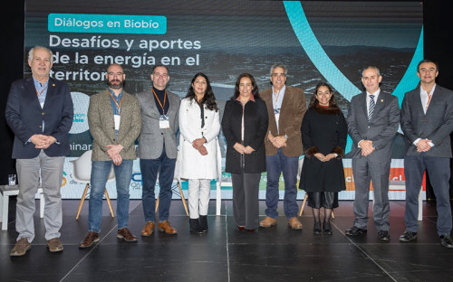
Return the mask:
<svg viewBox="0 0 453 282">
<path fill-rule="evenodd" d="M 105 184 L 111 171 L 111 161 L 92 161 L 92 191 L 90 193 L 90 210 L 88 214 L 88 230 L 99 232 L 102 218 L 102 196 Z M 129 186 L 132 178 L 133 160 L 122 160 L 120 165 L 114 165 L 117 191 L 117 221 L 118 229 L 128 227 L 129 221 Z"/>
</svg>

